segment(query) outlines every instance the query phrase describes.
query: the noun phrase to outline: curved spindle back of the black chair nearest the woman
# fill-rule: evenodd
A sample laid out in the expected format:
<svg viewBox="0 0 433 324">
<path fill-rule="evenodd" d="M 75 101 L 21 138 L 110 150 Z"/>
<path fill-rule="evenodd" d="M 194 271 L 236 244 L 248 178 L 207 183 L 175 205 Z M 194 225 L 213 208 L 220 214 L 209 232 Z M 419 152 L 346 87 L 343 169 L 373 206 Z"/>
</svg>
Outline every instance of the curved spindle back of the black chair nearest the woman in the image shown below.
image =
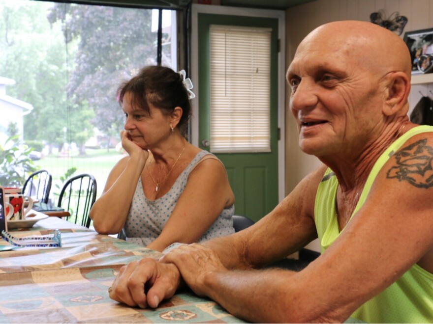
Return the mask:
<svg viewBox="0 0 433 324">
<path fill-rule="evenodd" d="M 90 227 L 90 209 L 96 200 L 96 180 L 91 174 L 83 173 L 68 179 L 59 196 L 59 207 L 71 215 L 68 220 Z"/>
</svg>

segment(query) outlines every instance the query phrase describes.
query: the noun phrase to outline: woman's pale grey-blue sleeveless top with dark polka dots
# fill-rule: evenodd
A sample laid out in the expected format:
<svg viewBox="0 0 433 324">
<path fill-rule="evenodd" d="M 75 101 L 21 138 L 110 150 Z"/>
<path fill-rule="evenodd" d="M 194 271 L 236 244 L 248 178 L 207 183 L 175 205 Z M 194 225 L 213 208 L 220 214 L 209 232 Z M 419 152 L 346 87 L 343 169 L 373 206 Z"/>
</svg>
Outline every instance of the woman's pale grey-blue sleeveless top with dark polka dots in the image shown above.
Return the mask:
<svg viewBox="0 0 433 324">
<path fill-rule="evenodd" d="M 129 208 L 128 216 L 124 225 L 126 241 L 143 246 L 153 242 L 161 233 L 162 228 L 170 217 L 179 200 L 180 195 L 186 187 L 189 173 L 195 165 L 206 155 L 212 154 L 200 151 L 186 166 L 185 170 L 176 179 L 173 187 L 162 197 L 149 200 L 143 192 L 141 177 L 138 179 L 137 188 Z M 199 242 L 204 242 L 215 237 L 229 235 L 235 232 L 232 216 L 235 206 L 223 209 L 214 224 L 203 235 Z"/>
</svg>

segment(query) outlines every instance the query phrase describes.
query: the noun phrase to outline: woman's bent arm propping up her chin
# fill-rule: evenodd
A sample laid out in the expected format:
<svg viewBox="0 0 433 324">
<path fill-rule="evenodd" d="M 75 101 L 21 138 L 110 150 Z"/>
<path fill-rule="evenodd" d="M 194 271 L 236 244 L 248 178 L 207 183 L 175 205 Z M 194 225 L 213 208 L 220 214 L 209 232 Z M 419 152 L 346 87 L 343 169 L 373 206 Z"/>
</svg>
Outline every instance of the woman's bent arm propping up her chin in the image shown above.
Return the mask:
<svg viewBox="0 0 433 324">
<path fill-rule="evenodd" d="M 102 195 L 90 211 L 93 226 L 101 234 L 116 234 L 122 230 L 138 179 L 149 157 L 149 152 L 131 142 L 124 131 L 122 146 L 129 157 L 120 160 L 111 170 Z"/>
</svg>

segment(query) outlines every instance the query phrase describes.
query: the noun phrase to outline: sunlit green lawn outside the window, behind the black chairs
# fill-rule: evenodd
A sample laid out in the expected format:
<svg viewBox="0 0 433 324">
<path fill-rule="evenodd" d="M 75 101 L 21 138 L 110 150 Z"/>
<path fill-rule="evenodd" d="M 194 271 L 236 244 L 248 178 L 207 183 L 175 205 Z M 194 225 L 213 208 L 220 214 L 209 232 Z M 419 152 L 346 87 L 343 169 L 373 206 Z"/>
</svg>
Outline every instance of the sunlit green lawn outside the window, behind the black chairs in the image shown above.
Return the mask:
<svg viewBox="0 0 433 324">
<path fill-rule="evenodd" d="M 87 155 L 85 157 L 79 157 L 76 152 L 72 152 L 71 157 L 50 155 L 35 161 L 38 169 L 46 169 L 53 176 L 52 193 L 50 196 L 53 196 L 53 193 L 60 193 L 60 189 L 62 188 L 60 178 L 64 176 L 69 168 L 76 167 L 77 171 L 75 171 L 72 176 L 81 173 L 90 173 L 95 177 L 97 196 L 99 197 L 102 189 L 104 189 L 108 174 L 123 155 L 115 151 L 115 149 L 110 149 L 109 151 L 107 151 L 107 149 L 86 149 L 86 153 Z M 58 189 L 56 185 L 59 186 L 60 189 Z"/>
</svg>

